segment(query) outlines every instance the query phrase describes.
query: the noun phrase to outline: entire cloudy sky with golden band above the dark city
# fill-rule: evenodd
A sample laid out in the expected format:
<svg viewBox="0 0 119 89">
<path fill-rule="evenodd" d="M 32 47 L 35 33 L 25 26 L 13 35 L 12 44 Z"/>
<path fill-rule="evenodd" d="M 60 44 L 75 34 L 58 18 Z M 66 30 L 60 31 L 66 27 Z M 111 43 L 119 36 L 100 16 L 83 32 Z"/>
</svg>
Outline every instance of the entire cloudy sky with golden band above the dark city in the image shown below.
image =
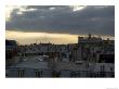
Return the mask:
<svg viewBox="0 0 119 89">
<path fill-rule="evenodd" d="M 88 34 L 115 36 L 113 5 L 6 5 L 6 39 L 75 43 Z"/>
</svg>

